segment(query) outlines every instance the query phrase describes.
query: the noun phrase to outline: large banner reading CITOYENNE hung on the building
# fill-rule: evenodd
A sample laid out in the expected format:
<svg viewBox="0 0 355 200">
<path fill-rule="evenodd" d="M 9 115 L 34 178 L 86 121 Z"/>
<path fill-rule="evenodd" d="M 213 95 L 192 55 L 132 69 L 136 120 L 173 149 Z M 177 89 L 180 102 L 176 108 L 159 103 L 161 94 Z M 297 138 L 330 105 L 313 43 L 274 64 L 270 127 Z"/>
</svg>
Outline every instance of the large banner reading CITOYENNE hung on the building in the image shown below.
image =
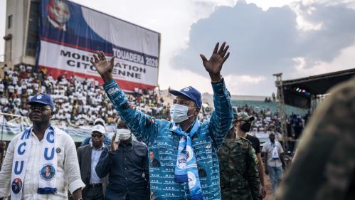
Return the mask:
<svg viewBox="0 0 355 200">
<path fill-rule="evenodd" d="M 37 63 L 47 74 L 95 78 L 92 54 L 115 58 L 112 70 L 122 90 L 153 89 L 159 73 L 160 33 L 66 0 L 41 0 Z"/>
</svg>

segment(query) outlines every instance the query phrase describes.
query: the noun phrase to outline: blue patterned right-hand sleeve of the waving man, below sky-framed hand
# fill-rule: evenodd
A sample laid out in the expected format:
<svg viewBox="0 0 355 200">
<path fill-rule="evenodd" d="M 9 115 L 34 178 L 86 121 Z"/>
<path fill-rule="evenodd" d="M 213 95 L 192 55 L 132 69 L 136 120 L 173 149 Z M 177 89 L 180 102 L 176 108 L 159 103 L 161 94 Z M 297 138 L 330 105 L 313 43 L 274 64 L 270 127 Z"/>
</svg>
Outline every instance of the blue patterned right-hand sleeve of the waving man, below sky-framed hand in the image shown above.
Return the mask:
<svg viewBox="0 0 355 200">
<path fill-rule="evenodd" d="M 228 134 L 232 125 L 233 112 L 231 98 L 222 79 L 219 83 L 212 83 L 214 111 L 211 116 L 210 126 L 212 137 L 217 149 Z"/>
</svg>

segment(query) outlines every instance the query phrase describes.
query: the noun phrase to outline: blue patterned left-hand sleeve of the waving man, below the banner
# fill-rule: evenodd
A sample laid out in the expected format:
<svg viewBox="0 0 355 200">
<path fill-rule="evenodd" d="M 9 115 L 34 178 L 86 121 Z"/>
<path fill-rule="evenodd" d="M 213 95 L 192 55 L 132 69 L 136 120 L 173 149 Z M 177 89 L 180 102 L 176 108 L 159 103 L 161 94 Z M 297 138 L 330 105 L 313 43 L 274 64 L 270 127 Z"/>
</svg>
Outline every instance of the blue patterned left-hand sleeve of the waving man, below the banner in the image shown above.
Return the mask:
<svg viewBox="0 0 355 200">
<path fill-rule="evenodd" d="M 103 86 L 108 98 L 110 98 L 120 117 L 126 122 L 132 133 L 148 144 L 150 138 L 155 136 L 157 127 L 154 124 L 159 120 L 153 119 L 134 107 L 130 107 L 126 95 L 124 95 L 115 80 L 111 80 Z"/>
</svg>

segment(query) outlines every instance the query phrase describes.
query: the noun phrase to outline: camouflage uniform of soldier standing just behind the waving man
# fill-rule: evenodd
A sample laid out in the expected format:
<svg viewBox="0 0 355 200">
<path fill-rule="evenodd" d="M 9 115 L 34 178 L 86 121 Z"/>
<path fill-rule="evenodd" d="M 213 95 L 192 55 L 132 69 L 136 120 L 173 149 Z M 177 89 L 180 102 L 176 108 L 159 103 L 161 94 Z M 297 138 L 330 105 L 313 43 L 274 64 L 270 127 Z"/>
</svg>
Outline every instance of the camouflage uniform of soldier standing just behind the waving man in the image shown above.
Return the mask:
<svg viewBox="0 0 355 200">
<path fill-rule="evenodd" d="M 260 199 L 258 159 L 249 140 L 224 140 L 218 158 L 222 200 Z"/>
</svg>

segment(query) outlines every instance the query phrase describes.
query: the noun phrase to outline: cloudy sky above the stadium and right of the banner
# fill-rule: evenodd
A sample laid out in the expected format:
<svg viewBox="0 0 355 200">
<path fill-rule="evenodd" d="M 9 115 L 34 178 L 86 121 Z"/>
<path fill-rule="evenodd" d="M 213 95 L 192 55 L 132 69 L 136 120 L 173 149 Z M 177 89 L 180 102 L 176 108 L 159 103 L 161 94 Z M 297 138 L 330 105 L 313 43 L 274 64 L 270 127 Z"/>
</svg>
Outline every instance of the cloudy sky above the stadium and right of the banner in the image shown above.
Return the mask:
<svg viewBox="0 0 355 200">
<path fill-rule="evenodd" d="M 355 68 L 355 0 L 73 1 L 161 33 L 161 89 L 212 93 L 199 54 L 209 58 L 223 41 L 231 56 L 221 74 L 233 95 L 271 95 L 274 73 L 287 80 Z M 1 0 L 1 38 L 5 8 Z"/>
</svg>

